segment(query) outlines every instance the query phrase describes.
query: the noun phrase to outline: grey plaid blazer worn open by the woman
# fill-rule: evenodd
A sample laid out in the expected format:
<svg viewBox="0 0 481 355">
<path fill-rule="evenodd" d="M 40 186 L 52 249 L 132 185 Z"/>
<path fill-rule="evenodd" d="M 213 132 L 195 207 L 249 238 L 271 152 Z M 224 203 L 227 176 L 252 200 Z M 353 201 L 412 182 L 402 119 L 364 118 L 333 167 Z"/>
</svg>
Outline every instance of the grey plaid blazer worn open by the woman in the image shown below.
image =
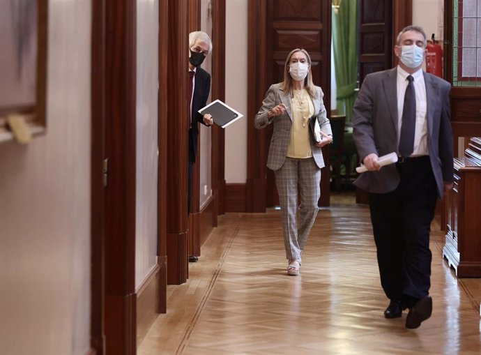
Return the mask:
<svg viewBox="0 0 481 355">
<path fill-rule="evenodd" d="M 287 147 L 289 146 L 289 140 L 291 139 L 291 96 L 288 93 L 284 93 L 284 91 L 280 89 L 280 86 L 280 84 L 273 84 L 270 86 L 266 93 L 266 98 L 264 98 L 264 101 L 262 102 L 262 107 L 259 109 L 259 112 L 257 112 L 254 123 L 254 126 L 257 129 L 266 128 L 270 123 L 274 123 L 274 131 L 273 136 L 270 139 L 269 154 L 267 158 L 267 167 L 273 170 L 280 169 L 280 167 L 284 165 Z M 319 86 L 315 86 L 315 88 L 317 90 L 317 97 L 312 100 L 314 103 L 314 114 L 317 116 L 319 127 L 321 127 L 323 133 L 332 135 L 333 133 L 330 129 L 330 123 L 326 114 L 326 107 L 324 107 L 322 99 L 324 93 Z M 280 103 L 286 105 L 286 112 L 268 119 L 268 111 Z M 312 139 L 311 150 L 316 165 L 319 168 L 324 167 L 322 150 L 312 142 Z"/>
</svg>

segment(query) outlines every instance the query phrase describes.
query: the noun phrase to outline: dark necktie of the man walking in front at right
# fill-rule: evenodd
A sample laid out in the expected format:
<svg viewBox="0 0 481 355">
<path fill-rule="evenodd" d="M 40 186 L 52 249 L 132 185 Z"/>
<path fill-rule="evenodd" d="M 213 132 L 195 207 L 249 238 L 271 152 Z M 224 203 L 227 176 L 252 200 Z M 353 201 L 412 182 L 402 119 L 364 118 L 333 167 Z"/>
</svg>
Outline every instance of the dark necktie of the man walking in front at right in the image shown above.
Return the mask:
<svg viewBox="0 0 481 355">
<path fill-rule="evenodd" d="M 414 129 L 416 123 L 416 96 L 414 91 L 414 78 L 408 75 L 409 81 L 404 94 L 402 107 L 401 137 L 399 137 L 399 153 L 406 158 L 411 156 L 414 149 Z"/>
</svg>

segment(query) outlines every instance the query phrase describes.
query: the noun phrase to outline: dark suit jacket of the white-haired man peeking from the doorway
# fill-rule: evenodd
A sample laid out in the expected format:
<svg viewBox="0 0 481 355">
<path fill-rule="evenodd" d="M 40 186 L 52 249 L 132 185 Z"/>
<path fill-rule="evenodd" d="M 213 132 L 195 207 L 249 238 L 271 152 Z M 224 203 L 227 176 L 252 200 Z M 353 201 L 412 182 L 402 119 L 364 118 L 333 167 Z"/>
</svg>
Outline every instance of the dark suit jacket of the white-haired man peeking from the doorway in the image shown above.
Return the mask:
<svg viewBox="0 0 481 355">
<path fill-rule="evenodd" d="M 189 130 L 189 160 L 191 163 L 194 163 L 197 153 L 197 137 L 199 137 L 197 122 L 205 125 L 203 116 L 197 111 L 206 105 L 209 91 L 211 91 L 211 75 L 198 67 L 195 72 L 194 95 L 192 96 L 192 128 Z"/>
</svg>

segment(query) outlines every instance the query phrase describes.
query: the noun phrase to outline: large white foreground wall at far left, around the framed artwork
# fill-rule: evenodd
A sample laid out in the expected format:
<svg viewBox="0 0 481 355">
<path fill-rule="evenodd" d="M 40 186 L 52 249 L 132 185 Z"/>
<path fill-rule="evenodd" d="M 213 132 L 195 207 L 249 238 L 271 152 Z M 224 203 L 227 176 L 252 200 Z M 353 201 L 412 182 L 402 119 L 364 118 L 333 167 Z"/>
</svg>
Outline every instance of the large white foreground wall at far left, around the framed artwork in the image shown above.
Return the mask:
<svg viewBox="0 0 481 355">
<path fill-rule="evenodd" d="M 89 349 L 91 1 L 48 18 L 47 133 L 0 144 L 2 354 Z"/>
</svg>

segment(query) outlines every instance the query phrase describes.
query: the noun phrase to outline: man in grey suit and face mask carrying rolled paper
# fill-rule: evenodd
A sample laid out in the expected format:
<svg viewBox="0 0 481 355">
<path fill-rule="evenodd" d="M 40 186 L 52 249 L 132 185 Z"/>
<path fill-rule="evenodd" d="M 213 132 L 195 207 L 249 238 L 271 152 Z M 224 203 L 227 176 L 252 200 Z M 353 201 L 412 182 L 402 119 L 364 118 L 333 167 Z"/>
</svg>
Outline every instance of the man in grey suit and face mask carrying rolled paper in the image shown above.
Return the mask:
<svg viewBox="0 0 481 355">
<path fill-rule="evenodd" d="M 426 35 L 409 26 L 397 36 L 396 68 L 365 77 L 353 108 L 353 138 L 367 168 L 355 181 L 369 192 L 386 318 L 418 328 L 432 313 L 429 231 L 436 199 L 452 188 L 450 84 L 422 71 Z M 398 162 L 378 158 L 397 152 Z"/>
</svg>

